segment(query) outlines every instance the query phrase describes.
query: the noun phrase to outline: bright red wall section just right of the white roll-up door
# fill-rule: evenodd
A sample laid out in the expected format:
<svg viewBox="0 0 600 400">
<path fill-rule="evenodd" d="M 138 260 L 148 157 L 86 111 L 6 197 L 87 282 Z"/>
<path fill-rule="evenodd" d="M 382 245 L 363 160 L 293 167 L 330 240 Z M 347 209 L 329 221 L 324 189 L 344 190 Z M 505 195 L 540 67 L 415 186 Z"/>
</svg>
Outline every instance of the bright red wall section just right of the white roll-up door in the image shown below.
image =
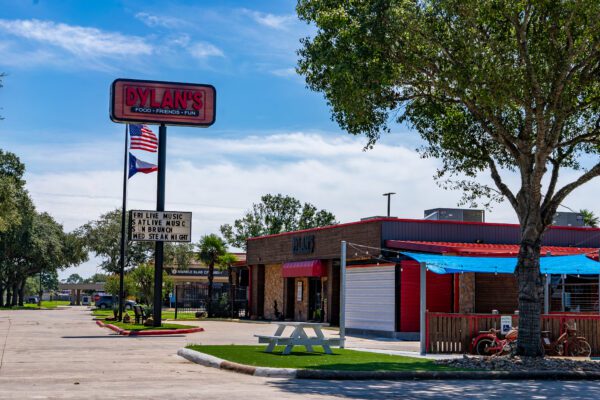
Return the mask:
<svg viewBox="0 0 600 400">
<path fill-rule="evenodd" d="M 400 331 L 419 331 L 419 263 L 402 261 L 400 263 Z M 439 275 L 427 271 L 427 309 L 434 312 L 452 312 L 453 275 Z"/>
</svg>

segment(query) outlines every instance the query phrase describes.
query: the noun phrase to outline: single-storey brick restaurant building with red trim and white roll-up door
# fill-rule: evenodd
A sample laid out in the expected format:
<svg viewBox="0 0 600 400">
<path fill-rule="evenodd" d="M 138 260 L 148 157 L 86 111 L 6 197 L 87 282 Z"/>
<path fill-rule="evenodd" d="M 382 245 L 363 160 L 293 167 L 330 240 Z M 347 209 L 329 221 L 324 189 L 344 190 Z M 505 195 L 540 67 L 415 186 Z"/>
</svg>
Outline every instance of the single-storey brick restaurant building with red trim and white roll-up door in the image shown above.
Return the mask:
<svg viewBox="0 0 600 400">
<path fill-rule="evenodd" d="M 340 244 L 346 241 L 347 330 L 410 337 L 419 331 L 419 265 L 402 251 L 516 257 L 519 240 L 516 224 L 382 217 L 251 238 L 250 314 L 339 324 Z M 553 226 L 544 235 L 542 255 L 597 259 L 599 248 L 600 229 Z M 598 275 L 548 279 L 551 311 L 598 312 Z M 429 311 L 512 313 L 517 306 L 512 274 L 427 272 Z"/>
</svg>

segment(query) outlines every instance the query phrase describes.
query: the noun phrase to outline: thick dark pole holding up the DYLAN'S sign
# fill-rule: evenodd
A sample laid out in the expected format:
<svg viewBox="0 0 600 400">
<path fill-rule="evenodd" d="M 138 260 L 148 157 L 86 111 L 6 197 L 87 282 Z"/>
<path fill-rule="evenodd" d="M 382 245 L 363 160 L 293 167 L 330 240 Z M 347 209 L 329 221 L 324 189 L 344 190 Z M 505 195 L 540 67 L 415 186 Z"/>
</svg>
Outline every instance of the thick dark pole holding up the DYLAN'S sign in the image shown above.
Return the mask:
<svg viewBox="0 0 600 400">
<path fill-rule="evenodd" d="M 156 185 L 156 211 L 165 211 L 165 169 L 167 161 L 167 127 L 158 128 L 158 173 Z M 164 242 L 156 242 L 154 251 L 154 326 L 161 325 L 162 271 Z"/>
</svg>

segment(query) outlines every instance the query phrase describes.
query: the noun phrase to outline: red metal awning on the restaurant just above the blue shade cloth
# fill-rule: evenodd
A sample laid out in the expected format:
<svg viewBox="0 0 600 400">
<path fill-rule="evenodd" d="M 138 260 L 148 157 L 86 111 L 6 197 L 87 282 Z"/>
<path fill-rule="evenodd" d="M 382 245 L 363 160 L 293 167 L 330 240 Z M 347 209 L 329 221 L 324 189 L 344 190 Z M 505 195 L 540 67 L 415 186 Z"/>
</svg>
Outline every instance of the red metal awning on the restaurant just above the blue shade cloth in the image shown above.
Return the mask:
<svg viewBox="0 0 600 400">
<path fill-rule="evenodd" d="M 386 240 L 386 247 L 398 250 L 421 251 L 425 253 L 451 254 L 460 256 L 483 257 L 516 257 L 519 255 L 518 244 L 488 244 L 488 243 L 452 243 L 452 242 L 423 242 L 416 240 Z M 541 255 L 550 252 L 553 256 L 588 254 L 590 258 L 598 257 L 597 248 L 592 247 L 563 247 L 542 246 Z"/>
</svg>

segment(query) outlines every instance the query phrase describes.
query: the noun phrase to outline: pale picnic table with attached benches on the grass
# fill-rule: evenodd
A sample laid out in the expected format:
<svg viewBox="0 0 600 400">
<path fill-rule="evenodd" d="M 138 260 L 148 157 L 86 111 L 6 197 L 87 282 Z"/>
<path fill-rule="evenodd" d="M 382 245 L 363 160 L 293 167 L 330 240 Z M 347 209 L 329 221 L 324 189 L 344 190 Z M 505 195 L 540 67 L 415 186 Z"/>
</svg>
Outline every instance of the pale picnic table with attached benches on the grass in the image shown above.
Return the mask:
<svg viewBox="0 0 600 400">
<path fill-rule="evenodd" d="M 327 354 L 333 354 L 330 346 L 339 346 L 339 338 L 326 338 L 323 335 L 321 328 L 326 324 L 314 323 L 314 322 L 284 322 L 277 321 L 271 322 L 277 325 L 277 330 L 273 336 L 266 335 L 254 335 L 258 338 L 258 343 L 268 343 L 266 352 L 272 353 L 277 345 L 286 345 L 283 350 L 283 354 L 288 355 L 294 348 L 294 346 L 304 346 L 306 351 L 312 352 L 313 346 L 322 346 L 323 350 Z M 283 332 L 285 328 L 293 327 L 294 330 L 289 336 L 284 336 Z M 311 328 L 316 336 L 308 336 L 305 329 Z"/>
</svg>

